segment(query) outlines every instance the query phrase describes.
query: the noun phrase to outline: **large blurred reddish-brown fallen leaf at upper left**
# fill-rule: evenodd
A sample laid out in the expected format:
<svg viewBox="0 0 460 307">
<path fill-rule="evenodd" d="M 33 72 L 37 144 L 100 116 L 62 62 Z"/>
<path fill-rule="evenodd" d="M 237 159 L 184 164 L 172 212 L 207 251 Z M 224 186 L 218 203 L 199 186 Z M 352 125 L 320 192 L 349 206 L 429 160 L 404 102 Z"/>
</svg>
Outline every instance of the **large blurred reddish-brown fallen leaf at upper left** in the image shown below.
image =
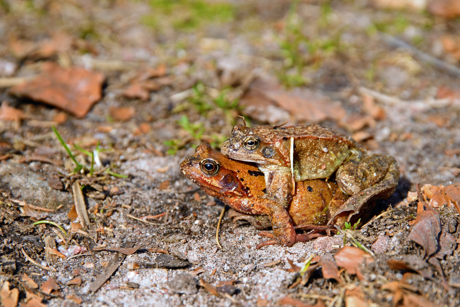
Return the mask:
<svg viewBox="0 0 460 307">
<path fill-rule="evenodd" d="M 42 74 L 12 87 L 10 92 L 61 108 L 81 118 L 101 99 L 104 80 L 102 73 L 84 68 L 61 68 L 46 62 Z"/>
</svg>

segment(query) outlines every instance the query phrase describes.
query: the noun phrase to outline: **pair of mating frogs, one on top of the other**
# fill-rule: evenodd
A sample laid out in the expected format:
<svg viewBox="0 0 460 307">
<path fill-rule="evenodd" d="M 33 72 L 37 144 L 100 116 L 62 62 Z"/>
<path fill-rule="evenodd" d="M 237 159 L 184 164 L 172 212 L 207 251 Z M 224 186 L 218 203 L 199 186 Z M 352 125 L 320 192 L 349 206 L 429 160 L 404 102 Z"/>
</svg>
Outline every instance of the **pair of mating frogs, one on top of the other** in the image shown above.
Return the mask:
<svg viewBox="0 0 460 307">
<path fill-rule="evenodd" d="M 367 156 L 350 136 L 316 124 L 236 125 L 221 153 L 202 144 L 180 169 L 207 194 L 241 212 L 236 219 L 259 228 L 271 224 L 273 233 L 261 233 L 271 240 L 257 248 L 292 246 L 330 233 L 332 225 L 350 222 L 371 199 L 388 198 L 399 179 L 392 156 Z"/>
</svg>

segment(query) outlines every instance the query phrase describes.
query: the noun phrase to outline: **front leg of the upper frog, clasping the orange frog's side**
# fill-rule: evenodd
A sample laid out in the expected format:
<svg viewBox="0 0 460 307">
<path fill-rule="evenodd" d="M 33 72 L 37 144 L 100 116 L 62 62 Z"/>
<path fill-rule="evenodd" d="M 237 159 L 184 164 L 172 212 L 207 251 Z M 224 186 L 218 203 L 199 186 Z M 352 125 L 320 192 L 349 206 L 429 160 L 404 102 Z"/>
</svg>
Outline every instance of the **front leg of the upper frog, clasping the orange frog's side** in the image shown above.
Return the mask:
<svg viewBox="0 0 460 307">
<path fill-rule="evenodd" d="M 276 201 L 275 207 L 288 208 L 294 188 L 291 168 L 279 165 L 258 166 L 265 175 L 267 193 L 264 198 Z"/>
</svg>

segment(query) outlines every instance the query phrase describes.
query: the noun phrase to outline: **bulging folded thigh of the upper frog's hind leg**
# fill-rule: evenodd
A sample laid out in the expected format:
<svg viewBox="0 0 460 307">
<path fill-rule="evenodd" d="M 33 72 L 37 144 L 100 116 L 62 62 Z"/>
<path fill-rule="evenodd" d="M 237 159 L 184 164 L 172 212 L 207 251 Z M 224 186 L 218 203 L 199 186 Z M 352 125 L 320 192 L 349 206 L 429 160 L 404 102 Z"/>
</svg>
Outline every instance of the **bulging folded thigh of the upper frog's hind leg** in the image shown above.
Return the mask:
<svg viewBox="0 0 460 307">
<path fill-rule="evenodd" d="M 397 170 L 397 172 L 395 172 Z M 387 175 L 391 178 L 385 179 Z M 399 166 L 391 155 L 374 153 L 363 159 L 352 159 L 337 169 L 336 180 L 342 191 L 354 195 L 381 182 L 381 193 L 394 190 L 399 180 Z"/>
</svg>

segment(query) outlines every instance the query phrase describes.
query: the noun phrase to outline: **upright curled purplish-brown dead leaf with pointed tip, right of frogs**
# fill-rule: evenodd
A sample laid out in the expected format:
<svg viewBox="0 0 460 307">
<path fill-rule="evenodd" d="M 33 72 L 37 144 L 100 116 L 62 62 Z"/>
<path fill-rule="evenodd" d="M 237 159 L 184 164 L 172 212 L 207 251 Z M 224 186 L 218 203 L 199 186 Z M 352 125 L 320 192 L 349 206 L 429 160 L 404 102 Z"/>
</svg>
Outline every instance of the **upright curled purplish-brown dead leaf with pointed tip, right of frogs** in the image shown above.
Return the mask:
<svg viewBox="0 0 460 307">
<path fill-rule="evenodd" d="M 437 238 L 440 232 L 441 222 L 438 213 L 419 200 L 414 227 L 407 239 L 421 245 L 425 250 L 425 258 L 429 258 L 437 251 Z"/>
</svg>

